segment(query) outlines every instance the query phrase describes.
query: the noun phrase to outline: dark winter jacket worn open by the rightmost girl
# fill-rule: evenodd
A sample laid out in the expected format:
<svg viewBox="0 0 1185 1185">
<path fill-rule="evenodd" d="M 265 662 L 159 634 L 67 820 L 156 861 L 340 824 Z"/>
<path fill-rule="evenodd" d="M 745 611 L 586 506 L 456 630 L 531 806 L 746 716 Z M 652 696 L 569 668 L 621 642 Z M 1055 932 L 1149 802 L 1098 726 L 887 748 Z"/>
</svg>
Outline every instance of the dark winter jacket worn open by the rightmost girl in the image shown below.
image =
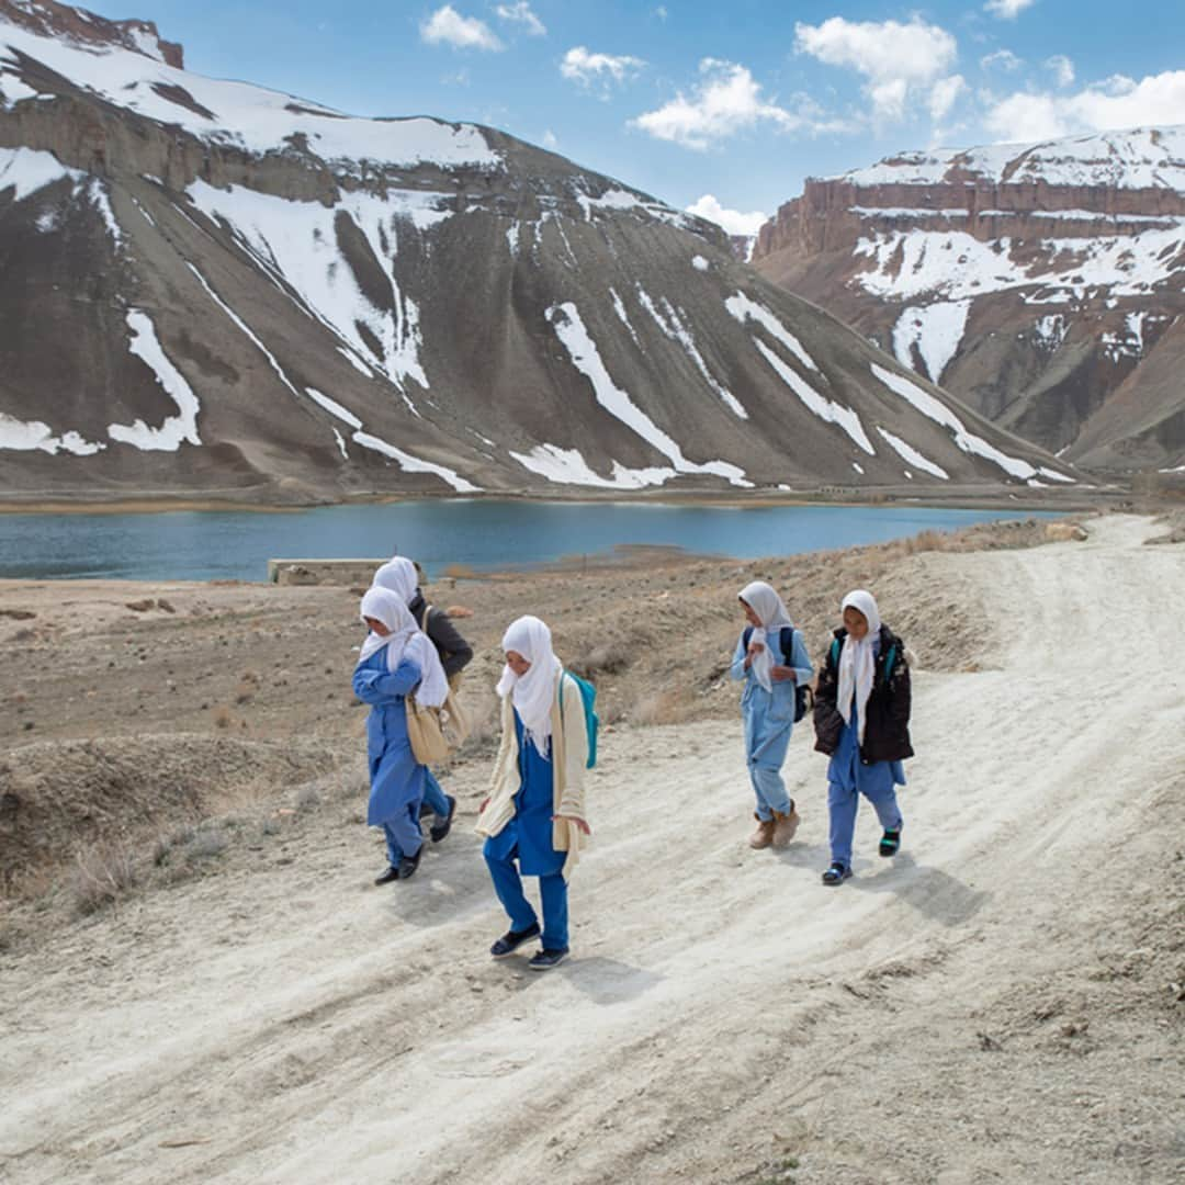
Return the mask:
<svg viewBox="0 0 1185 1185">
<path fill-rule="evenodd" d="M 839 692 L 839 654 L 847 639 L 846 629 L 837 629 L 839 641 L 827 646 L 820 664 L 819 684 L 815 687 L 814 726 L 815 749 L 833 754 L 839 748 L 839 735 L 844 729 L 844 717 L 835 706 Z M 892 655 L 892 670 L 885 679 L 885 664 Z M 872 691 L 864 709 L 864 744 L 860 761 L 866 766 L 875 761 L 901 761 L 914 756 L 909 742 L 909 662 L 905 643 L 888 627 L 880 627 L 880 649 L 872 670 Z"/>
</svg>

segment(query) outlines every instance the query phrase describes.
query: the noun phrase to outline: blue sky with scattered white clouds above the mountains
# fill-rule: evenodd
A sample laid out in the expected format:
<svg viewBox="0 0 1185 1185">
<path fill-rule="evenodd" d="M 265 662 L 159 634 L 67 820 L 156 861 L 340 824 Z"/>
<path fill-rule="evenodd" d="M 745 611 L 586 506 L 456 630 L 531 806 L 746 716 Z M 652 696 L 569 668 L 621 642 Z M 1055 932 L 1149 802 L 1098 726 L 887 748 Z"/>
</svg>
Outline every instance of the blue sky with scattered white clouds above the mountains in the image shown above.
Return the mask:
<svg viewBox="0 0 1185 1185">
<path fill-rule="evenodd" d="M 154 20 L 200 73 L 493 124 L 679 207 L 770 214 L 904 148 L 1185 123 L 1183 0 L 88 7 Z"/>
</svg>

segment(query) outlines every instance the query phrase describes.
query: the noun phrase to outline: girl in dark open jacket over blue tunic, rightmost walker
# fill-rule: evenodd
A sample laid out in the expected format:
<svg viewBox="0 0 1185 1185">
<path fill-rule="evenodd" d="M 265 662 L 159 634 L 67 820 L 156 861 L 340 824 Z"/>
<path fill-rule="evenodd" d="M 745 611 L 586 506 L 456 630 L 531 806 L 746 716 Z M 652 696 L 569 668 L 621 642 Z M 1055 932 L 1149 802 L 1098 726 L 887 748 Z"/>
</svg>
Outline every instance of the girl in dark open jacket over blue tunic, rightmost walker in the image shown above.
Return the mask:
<svg viewBox="0 0 1185 1185">
<path fill-rule="evenodd" d="M 902 818 L 895 787 L 905 784 L 902 761 L 909 743 L 909 664 L 905 646 L 882 624 L 871 592 L 844 597 L 844 626 L 827 648 L 815 692 L 815 749 L 831 757 L 827 809 L 831 815 L 831 867 L 825 885 L 852 875 L 852 837 L 863 794 L 884 828 L 880 854 L 901 847 Z"/>
</svg>

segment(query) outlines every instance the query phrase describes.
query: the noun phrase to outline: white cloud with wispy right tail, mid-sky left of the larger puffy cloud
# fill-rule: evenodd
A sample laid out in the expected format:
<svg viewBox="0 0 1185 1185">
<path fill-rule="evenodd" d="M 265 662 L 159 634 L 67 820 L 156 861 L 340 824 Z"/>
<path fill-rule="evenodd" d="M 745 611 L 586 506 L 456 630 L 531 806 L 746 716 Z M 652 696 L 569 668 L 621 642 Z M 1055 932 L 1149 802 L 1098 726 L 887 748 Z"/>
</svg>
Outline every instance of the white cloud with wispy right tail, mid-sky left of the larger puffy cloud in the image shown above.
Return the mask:
<svg viewBox="0 0 1185 1185">
<path fill-rule="evenodd" d="M 789 111 L 762 97 L 761 84 L 745 66 L 735 62 L 704 58 L 699 63 L 704 81 L 691 98 L 681 91 L 656 111 L 646 111 L 630 124 L 655 140 L 670 140 L 685 148 L 704 150 L 715 141 L 726 140 L 757 123 L 773 123 L 782 132 L 847 132 L 841 121 L 825 121 L 822 111 L 807 96 L 796 96 L 796 110 Z"/>
</svg>

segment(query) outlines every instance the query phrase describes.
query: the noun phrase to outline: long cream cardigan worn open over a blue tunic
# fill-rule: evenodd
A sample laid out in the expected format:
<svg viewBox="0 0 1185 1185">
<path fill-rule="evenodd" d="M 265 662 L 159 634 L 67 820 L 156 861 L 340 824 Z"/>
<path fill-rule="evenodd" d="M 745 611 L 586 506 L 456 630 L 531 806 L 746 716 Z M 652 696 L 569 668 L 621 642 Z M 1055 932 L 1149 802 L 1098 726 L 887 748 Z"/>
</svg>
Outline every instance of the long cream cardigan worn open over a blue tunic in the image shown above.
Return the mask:
<svg viewBox="0 0 1185 1185">
<path fill-rule="evenodd" d="M 557 678 L 557 694 L 551 702 L 551 768 L 553 813 L 568 815 L 551 825 L 551 845 L 566 852 L 564 879 L 579 859 L 584 833 L 571 819 L 584 819 L 584 766 L 589 755 L 588 728 L 584 723 L 584 700 L 579 687 L 563 673 Z M 559 694 L 564 697 L 563 712 Z M 489 796 L 478 815 L 478 834 L 497 835 L 514 818 L 514 795 L 519 790 L 518 736 L 514 731 L 512 697 L 502 699 L 502 742 L 498 747 L 494 771 L 489 781 Z"/>
</svg>

